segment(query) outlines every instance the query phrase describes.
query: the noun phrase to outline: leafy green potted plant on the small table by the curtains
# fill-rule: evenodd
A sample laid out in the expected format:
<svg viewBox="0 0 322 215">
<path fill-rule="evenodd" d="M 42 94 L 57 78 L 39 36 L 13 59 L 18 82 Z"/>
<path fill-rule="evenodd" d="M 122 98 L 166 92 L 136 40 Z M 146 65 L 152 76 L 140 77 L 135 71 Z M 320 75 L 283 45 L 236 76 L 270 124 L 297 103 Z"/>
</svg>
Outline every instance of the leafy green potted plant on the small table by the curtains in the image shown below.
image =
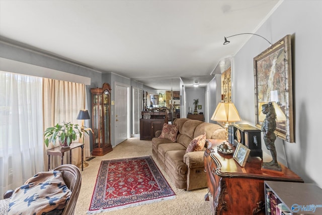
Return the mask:
<svg viewBox="0 0 322 215">
<path fill-rule="evenodd" d="M 82 132 L 78 124 L 63 122 L 60 125 L 57 123 L 54 127 L 48 127 L 45 130 L 45 145 L 48 147 L 49 142 L 52 142 L 55 146 L 56 140 L 58 139 L 61 147 L 69 147 L 71 142 L 77 138 L 77 134 L 79 134 L 79 138 L 82 138 Z M 84 132 L 88 134 L 86 130 Z"/>
</svg>

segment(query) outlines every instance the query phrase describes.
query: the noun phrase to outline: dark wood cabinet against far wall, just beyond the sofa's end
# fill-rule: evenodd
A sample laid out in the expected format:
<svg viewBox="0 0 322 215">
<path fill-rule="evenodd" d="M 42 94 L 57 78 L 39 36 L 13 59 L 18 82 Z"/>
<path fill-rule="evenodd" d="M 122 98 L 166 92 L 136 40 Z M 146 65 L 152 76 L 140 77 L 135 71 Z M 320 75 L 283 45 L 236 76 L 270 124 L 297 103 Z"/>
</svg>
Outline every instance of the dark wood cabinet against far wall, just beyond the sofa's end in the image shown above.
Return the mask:
<svg viewBox="0 0 322 215">
<path fill-rule="evenodd" d="M 151 140 L 155 131 L 162 130 L 164 119 L 140 119 L 140 139 Z"/>
</svg>

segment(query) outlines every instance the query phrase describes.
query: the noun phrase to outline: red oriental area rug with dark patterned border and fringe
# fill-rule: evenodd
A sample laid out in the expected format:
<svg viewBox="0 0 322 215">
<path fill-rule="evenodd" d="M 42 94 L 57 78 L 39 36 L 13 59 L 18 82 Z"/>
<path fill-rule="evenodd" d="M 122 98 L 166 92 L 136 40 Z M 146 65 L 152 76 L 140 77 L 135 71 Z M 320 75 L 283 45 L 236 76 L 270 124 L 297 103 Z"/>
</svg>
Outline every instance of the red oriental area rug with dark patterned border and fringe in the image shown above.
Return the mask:
<svg viewBox="0 0 322 215">
<path fill-rule="evenodd" d="M 151 156 L 101 162 L 87 213 L 111 211 L 175 198 Z"/>
</svg>

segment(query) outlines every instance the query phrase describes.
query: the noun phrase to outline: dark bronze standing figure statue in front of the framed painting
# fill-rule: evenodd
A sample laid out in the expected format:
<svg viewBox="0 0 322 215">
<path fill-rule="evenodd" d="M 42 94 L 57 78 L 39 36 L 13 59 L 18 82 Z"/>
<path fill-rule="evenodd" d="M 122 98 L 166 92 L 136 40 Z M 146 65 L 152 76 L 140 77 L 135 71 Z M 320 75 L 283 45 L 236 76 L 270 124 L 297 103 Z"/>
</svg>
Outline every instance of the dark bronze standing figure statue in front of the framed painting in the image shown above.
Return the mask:
<svg viewBox="0 0 322 215">
<path fill-rule="evenodd" d="M 277 162 L 277 154 L 274 144 L 276 139 L 276 135 L 274 133 L 276 129 L 276 112 L 272 102 L 262 105 L 262 112 L 266 114 L 266 117 L 262 124 L 261 131 L 264 134 L 266 148 L 270 151 L 273 159 L 271 162 L 263 162 L 263 168 L 282 171 L 281 165 Z"/>
</svg>

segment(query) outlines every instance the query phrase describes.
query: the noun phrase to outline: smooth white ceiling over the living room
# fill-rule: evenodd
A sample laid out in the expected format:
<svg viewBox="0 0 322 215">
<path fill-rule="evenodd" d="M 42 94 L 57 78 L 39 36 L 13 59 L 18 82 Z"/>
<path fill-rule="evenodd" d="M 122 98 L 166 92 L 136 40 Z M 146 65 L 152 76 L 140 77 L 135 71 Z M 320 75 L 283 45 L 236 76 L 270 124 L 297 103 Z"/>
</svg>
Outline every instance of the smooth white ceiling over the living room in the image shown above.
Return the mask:
<svg viewBox="0 0 322 215">
<path fill-rule="evenodd" d="M 157 90 L 209 83 L 279 5 L 250 1 L 0 0 L 0 36 Z M 263 35 L 270 40 L 268 35 Z M 170 84 L 170 85 L 169 85 Z"/>
</svg>

